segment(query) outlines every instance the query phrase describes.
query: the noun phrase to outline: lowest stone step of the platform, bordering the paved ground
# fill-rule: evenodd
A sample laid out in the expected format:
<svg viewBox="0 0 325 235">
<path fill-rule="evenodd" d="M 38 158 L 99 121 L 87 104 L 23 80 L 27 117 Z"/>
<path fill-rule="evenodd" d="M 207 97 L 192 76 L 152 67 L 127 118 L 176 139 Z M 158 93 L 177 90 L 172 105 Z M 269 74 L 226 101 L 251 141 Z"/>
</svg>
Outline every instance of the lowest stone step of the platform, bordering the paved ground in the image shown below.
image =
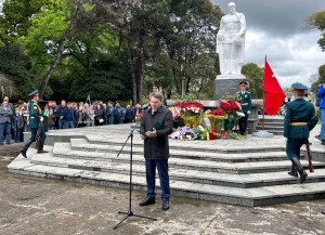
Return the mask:
<svg viewBox="0 0 325 235">
<path fill-rule="evenodd" d="M 126 190 L 129 188 L 128 174 L 35 165 L 31 164 L 30 160 L 23 158 L 21 155 L 15 161 L 10 164 L 9 171 L 13 173 L 54 178 L 79 183 L 89 183 Z M 132 183 L 133 190 L 146 190 L 144 177 L 133 175 Z M 156 186 L 157 193 L 159 193 L 158 180 L 156 181 Z M 303 185 L 285 184 L 240 188 L 170 180 L 170 186 L 172 196 L 249 207 L 315 198 L 318 199 L 324 197 L 325 192 L 325 182 L 310 182 Z"/>
</svg>

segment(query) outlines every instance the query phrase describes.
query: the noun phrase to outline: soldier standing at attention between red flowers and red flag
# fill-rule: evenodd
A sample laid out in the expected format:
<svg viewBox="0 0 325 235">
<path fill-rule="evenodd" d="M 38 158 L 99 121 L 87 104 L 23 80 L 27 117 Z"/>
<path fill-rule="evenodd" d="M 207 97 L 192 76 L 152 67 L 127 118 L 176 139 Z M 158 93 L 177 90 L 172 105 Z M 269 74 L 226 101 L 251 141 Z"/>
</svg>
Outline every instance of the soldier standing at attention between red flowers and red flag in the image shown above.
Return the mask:
<svg viewBox="0 0 325 235">
<path fill-rule="evenodd" d="M 246 87 L 247 87 L 246 81 L 240 81 L 239 86 L 240 86 L 240 91 L 236 93 L 236 101 L 240 104 L 245 117 L 242 117 L 238 120 L 238 126 L 239 126 L 240 134 L 246 135 L 248 116 L 251 110 L 251 95 L 249 91 L 246 91 Z"/>
</svg>

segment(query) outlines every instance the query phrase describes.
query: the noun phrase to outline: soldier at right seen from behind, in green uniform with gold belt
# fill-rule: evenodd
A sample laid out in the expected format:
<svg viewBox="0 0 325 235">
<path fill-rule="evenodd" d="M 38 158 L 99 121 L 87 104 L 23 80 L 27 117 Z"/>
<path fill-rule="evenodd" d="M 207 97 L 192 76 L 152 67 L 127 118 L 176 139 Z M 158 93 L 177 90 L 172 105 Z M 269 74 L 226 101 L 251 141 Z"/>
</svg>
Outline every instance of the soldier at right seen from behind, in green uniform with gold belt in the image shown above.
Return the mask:
<svg viewBox="0 0 325 235">
<path fill-rule="evenodd" d="M 300 174 L 300 183 L 303 183 L 307 173 L 299 161 L 300 147 L 308 141 L 309 132 L 316 126 L 318 118 L 314 105 L 306 101 L 307 87 L 301 83 L 294 83 L 295 101 L 287 103 L 286 116 L 284 119 L 284 136 L 287 139 L 286 154 L 292 162 L 292 177 Z"/>
</svg>

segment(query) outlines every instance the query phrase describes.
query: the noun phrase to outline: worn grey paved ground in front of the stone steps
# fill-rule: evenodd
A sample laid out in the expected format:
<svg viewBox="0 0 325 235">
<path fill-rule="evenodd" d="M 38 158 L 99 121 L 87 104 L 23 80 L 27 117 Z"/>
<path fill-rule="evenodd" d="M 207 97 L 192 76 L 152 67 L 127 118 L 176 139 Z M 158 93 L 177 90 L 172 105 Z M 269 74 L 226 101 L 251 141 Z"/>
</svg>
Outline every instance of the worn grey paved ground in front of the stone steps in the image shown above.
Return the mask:
<svg viewBox="0 0 325 235">
<path fill-rule="evenodd" d="M 117 212 L 128 210 L 128 191 L 9 173 L 21 146 L 0 146 L 1 235 L 325 234 L 325 200 L 247 208 L 172 197 L 171 209 L 162 211 L 160 200 L 139 207 L 145 197 L 139 192 L 133 212 L 157 221 L 131 217 L 113 230 L 123 218 Z"/>
</svg>

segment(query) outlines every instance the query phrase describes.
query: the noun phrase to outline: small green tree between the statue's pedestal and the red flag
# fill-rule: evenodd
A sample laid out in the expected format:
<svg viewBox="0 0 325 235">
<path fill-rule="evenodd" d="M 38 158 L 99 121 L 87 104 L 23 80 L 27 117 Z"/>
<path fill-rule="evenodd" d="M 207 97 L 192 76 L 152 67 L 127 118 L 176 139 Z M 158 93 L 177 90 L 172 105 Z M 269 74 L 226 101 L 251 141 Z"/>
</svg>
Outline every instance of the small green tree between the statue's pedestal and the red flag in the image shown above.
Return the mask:
<svg viewBox="0 0 325 235">
<path fill-rule="evenodd" d="M 247 63 L 243 66 L 242 74 L 249 82 L 249 91 L 251 93 L 251 97 L 262 99 L 264 69 L 259 67 L 255 63 Z"/>
</svg>

